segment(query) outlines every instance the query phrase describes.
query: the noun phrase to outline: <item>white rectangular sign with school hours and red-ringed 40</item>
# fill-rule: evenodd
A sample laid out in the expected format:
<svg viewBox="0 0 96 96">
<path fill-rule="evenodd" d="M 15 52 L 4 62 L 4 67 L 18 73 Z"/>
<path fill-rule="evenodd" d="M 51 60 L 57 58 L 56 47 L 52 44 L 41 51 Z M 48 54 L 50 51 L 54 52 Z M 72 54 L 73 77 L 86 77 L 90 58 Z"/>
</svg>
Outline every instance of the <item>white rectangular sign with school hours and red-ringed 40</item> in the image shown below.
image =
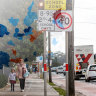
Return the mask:
<svg viewBox="0 0 96 96">
<path fill-rule="evenodd" d="M 39 10 L 38 29 L 44 28 L 47 31 L 72 31 L 72 11 Z"/>
</svg>

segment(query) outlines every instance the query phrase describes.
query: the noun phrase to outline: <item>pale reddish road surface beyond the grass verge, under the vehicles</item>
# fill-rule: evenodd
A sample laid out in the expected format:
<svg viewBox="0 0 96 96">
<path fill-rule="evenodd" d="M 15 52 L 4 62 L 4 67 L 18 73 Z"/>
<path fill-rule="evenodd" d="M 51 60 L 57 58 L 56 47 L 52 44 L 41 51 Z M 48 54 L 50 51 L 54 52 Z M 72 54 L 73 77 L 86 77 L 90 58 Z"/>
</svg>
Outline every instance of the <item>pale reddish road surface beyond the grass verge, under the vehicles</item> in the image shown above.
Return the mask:
<svg viewBox="0 0 96 96">
<path fill-rule="evenodd" d="M 56 85 L 66 89 L 66 77 L 63 74 L 53 72 L 52 81 Z M 75 91 L 81 94 L 78 96 L 96 96 L 96 81 L 85 82 L 84 78 L 75 80 Z"/>
</svg>

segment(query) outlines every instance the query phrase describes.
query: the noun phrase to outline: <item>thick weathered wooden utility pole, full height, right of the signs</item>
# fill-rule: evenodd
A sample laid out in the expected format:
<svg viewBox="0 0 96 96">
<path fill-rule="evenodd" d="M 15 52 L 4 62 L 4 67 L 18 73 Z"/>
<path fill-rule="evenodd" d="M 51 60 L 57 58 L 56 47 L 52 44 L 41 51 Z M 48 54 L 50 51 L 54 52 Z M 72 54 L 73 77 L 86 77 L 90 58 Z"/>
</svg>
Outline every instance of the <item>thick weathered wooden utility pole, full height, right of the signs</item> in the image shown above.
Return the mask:
<svg viewBox="0 0 96 96">
<path fill-rule="evenodd" d="M 74 84 L 74 0 L 72 0 L 72 32 L 69 32 L 68 64 L 69 64 L 69 96 L 75 96 Z"/>
</svg>

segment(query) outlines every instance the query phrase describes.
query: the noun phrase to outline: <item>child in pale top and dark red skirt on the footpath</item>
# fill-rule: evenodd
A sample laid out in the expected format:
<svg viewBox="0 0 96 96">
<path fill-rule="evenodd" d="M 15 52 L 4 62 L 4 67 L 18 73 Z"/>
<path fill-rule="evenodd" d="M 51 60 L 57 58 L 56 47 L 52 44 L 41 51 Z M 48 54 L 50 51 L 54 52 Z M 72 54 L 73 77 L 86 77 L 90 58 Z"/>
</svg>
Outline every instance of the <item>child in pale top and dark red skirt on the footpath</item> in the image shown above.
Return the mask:
<svg viewBox="0 0 96 96">
<path fill-rule="evenodd" d="M 11 69 L 11 72 L 9 74 L 9 80 L 11 83 L 11 91 L 14 91 L 14 84 L 16 83 L 16 73 L 15 73 L 15 69 Z"/>
</svg>

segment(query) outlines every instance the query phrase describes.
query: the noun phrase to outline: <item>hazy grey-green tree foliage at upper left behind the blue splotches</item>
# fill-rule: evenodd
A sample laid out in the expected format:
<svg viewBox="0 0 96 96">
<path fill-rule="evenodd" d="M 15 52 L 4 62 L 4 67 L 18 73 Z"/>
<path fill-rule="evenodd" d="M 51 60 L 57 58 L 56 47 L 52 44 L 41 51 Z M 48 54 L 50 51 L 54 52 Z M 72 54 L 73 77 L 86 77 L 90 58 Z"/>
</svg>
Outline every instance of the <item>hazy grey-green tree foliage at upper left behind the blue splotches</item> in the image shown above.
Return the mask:
<svg viewBox="0 0 96 96">
<path fill-rule="evenodd" d="M 18 3 L 19 2 L 19 3 Z M 34 6 L 32 8 L 33 12 L 37 12 L 37 0 L 34 0 Z M 43 53 L 43 34 L 41 34 L 34 42 L 30 42 L 30 36 L 26 36 L 23 40 L 18 40 L 17 38 L 13 37 L 15 32 L 15 28 L 19 28 L 19 33 L 24 33 L 24 29 L 27 27 L 23 24 L 23 20 L 28 12 L 28 7 L 32 3 L 32 1 L 6 1 L 0 0 L 1 14 L 0 14 L 0 23 L 5 25 L 10 32 L 9 36 L 4 35 L 3 38 L 0 38 L 0 51 L 7 52 L 10 58 L 17 58 L 21 57 L 23 59 L 28 58 L 29 62 L 35 60 L 35 57 L 41 55 Z M 7 10 L 6 10 L 7 9 Z M 19 18 L 19 23 L 16 27 L 13 27 L 9 22 L 8 19 L 11 17 Z M 34 30 L 37 30 L 37 22 L 33 22 L 31 25 Z M 16 50 L 16 56 L 12 53 L 11 48 L 8 48 L 7 42 L 12 40 L 15 44 L 14 49 Z M 33 53 L 36 52 L 36 55 Z"/>
</svg>

